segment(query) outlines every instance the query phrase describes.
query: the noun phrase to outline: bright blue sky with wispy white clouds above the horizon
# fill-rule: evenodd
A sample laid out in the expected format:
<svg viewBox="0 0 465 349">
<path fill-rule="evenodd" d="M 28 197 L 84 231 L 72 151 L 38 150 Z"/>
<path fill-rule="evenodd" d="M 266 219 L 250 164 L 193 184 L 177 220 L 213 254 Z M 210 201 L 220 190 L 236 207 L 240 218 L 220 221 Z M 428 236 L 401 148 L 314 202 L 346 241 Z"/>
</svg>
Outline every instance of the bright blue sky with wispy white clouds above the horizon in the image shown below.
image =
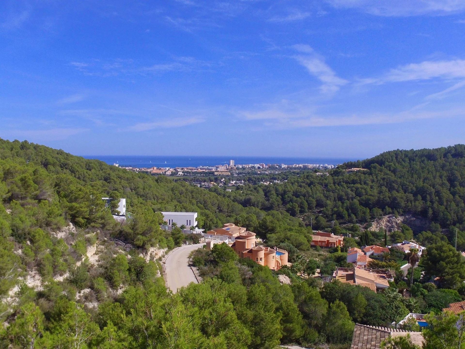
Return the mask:
<svg viewBox="0 0 465 349">
<path fill-rule="evenodd" d="M 463 0 L 0 3 L 0 137 L 79 155 L 465 142 Z"/>
</svg>

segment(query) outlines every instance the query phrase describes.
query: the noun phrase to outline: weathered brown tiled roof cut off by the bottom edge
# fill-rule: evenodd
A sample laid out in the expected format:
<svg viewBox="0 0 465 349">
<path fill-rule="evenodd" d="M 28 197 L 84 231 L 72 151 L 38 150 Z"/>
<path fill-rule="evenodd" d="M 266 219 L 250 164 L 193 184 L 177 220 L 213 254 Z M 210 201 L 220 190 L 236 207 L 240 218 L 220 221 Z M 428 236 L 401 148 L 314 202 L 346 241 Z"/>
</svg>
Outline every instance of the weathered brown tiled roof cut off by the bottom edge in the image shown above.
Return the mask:
<svg viewBox="0 0 465 349">
<path fill-rule="evenodd" d="M 423 345 L 421 332 L 405 331 L 403 329 L 391 329 L 388 327 L 360 325 L 357 323 L 353 329 L 351 349 L 379 349 L 381 343 L 389 336 L 399 337 L 410 335 L 414 344 Z"/>
</svg>

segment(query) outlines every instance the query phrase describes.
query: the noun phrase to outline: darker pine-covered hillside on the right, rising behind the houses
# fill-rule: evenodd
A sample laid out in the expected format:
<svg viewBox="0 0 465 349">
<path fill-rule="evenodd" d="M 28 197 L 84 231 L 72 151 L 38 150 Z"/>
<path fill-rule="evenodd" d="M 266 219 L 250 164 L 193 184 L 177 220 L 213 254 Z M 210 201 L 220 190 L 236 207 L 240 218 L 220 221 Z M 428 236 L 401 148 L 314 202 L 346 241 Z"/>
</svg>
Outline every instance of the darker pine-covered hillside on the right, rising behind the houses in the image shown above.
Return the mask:
<svg viewBox="0 0 465 349">
<path fill-rule="evenodd" d="M 368 170 L 347 173 L 346 168 Z M 290 176 L 286 183 L 247 185 L 223 195 L 243 206 L 286 208 L 294 216 L 316 213 L 339 223 L 411 213 L 442 228 L 465 228 L 464 145 L 389 151 L 345 163 L 329 174 L 307 171 Z"/>
</svg>

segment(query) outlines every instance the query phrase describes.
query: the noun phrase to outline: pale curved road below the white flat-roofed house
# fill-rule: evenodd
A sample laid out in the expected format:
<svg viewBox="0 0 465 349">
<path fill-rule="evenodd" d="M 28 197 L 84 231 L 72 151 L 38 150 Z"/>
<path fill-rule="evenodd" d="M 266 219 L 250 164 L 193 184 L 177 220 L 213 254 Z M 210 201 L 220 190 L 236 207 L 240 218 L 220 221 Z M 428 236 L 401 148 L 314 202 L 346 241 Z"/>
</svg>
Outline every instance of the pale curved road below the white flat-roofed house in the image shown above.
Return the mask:
<svg viewBox="0 0 465 349">
<path fill-rule="evenodd" d="M 189 255 L 191 251 L 201 248 L 204 244 L 183 245 L 171 251 L 164 259 L 166 286 L 176 293 L 178 289 L 187 286 L 191 282 L 197 283 L 195 275 L 189 267 Z"/>
</svg>

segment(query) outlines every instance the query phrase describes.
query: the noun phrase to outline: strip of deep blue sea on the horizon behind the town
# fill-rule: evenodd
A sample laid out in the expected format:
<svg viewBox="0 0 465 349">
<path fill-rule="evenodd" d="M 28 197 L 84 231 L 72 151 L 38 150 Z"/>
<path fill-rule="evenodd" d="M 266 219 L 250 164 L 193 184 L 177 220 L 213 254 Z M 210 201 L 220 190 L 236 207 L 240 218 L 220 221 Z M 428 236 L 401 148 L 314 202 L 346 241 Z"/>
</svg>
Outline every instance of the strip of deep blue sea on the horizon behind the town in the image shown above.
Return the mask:
<svg viewBox="0 0 465 349">
<path fill-rule="evenodd" d="M 149 167 L 198 167 L 215 166 L 229 164 L 229 160 L 234 160 L 236 165 L 245 164 L 328 164 L 339 165 L 346 161 L 355 161 L 352 158 L 300 158 L 300 157 L 265 157 L 265 156 L 129 156 L 129 155 L 95 155 L 84 156 L 86 159 L 97 159 L 109 165 L 114 163 L 120 166 L 130 166 L 136 168 Z"/>
</svg>

